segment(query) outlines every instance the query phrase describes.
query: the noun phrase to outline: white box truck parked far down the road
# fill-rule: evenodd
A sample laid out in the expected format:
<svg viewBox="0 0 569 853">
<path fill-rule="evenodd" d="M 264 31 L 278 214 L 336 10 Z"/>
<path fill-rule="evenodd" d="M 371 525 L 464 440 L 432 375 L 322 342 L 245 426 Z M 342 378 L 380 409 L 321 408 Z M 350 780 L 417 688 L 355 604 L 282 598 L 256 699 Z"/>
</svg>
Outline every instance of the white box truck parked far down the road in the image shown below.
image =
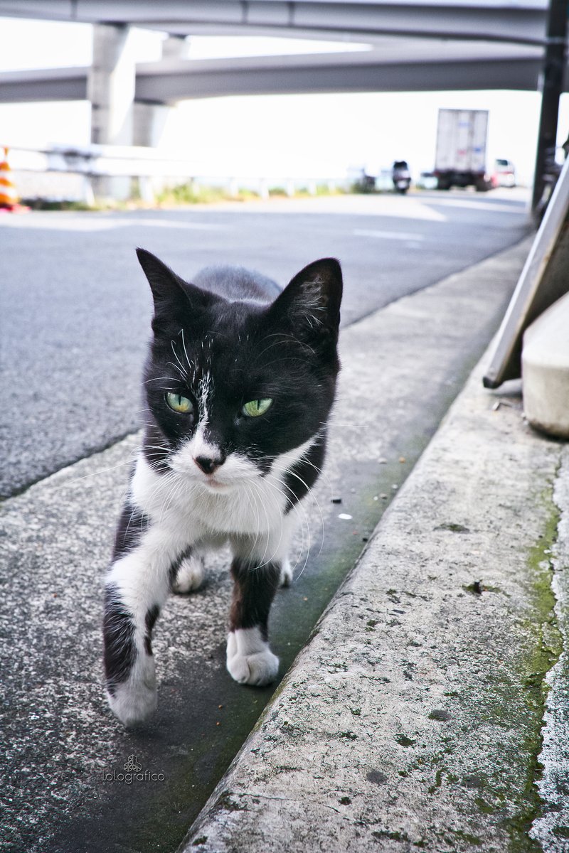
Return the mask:
<svg viewBox="0 0 569 853">
<path fill-rule="evenodd" d="M 491 188 L 486 174 L 488 110 L 439 109 L 434 174 L 438 189 Z"/>
</svg>

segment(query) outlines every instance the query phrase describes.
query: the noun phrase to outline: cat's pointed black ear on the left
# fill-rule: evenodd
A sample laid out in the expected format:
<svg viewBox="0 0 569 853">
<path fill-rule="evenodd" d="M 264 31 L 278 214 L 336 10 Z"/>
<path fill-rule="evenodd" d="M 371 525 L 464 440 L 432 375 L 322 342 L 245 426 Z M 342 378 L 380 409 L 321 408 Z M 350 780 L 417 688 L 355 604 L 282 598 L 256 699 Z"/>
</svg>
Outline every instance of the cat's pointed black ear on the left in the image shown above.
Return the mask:
<svg viewBox="0 0 569 853">
<path fill-rule="evenodd" d="M 179 323 L 195 316 L 211 301 L 209 293 L 183 281 L 152 252 L 139 248 L 136 256 L 154 297 L 154 332 L 170 325 L 174 319 Z"/>
</svg>

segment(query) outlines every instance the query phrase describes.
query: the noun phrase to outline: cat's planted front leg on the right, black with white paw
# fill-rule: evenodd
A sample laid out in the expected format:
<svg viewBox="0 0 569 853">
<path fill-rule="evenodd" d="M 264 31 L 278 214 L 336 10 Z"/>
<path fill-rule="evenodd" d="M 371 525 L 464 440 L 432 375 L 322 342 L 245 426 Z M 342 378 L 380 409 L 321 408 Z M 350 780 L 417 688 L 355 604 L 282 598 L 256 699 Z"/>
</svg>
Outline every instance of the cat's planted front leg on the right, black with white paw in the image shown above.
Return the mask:
<svg viewBox="0 0 569 853">
<path fill-rule="evenodd" d="M 273 682 L 279 669 L 269 647 L 268 621 L 281 578 L 280 563 L 260 563 L 235 557 L 231 564 L 235 585 L 227 640 L 229 674 L 240 684 L 258 687 Z"/>
</svg>

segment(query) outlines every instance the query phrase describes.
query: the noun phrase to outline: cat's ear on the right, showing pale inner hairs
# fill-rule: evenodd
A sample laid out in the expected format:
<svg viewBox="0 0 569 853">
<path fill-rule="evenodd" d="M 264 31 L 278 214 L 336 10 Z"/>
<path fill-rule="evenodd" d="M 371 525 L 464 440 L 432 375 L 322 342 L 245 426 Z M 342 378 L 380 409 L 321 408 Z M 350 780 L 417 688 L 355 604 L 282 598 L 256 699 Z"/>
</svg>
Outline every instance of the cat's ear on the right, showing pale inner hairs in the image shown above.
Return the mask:
<svg viewBox="0 0 569 853">
<path fill-rule="evenodd" d="M 271 306 L 284 314 L 295 333 L 322 335 L 334 340 L 340 326 L 342 269 L 336 258 L 321 258 L 300 270 Z M 303 334 L 303 332 L 305 334 Z"/>
</svg>

